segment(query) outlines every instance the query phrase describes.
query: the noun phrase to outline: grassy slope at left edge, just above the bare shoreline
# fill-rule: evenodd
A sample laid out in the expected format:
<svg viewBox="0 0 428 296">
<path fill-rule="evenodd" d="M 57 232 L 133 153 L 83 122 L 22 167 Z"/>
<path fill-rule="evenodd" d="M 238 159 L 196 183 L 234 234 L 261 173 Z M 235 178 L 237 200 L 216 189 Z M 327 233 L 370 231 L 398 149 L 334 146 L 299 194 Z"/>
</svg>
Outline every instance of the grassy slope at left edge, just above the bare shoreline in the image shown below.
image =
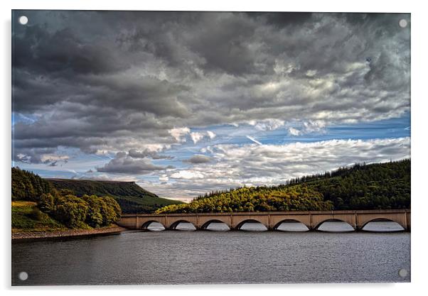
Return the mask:
<svg viewBox="0 0 428 296">
<path fill-rule="evenodd" d="M 12 232 L 28 231 L 60 231 L 67 230 L 63 224 L 41 213 L 41 219 L 35 219 L 32 211 L 36 208 L 36 202 L 14 201 L 12 202 Z"/>
</svg>

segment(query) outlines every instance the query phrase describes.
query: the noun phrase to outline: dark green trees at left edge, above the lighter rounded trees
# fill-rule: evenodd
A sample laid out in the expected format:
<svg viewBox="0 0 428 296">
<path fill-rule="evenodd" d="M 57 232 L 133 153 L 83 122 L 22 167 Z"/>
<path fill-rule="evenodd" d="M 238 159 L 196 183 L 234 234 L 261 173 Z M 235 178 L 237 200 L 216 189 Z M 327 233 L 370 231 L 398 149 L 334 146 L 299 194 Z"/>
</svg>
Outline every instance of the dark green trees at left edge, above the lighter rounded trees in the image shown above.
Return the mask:
<svg viewBox="0 0 428 296">
<path fill-rule="evenodd" d="M 50 192 L 49 182 L 32 172 L 12 168 L 12 200 L 37 202 L 47 192 Z"/>
</svg>

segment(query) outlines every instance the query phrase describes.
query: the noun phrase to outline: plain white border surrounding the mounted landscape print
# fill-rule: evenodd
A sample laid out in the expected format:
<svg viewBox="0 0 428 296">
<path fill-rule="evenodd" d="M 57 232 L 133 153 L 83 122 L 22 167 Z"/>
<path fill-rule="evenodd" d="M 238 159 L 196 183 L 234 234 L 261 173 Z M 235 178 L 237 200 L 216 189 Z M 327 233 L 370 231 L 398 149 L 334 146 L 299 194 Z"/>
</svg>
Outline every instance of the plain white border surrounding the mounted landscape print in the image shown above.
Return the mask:
<svg viewBox="0 0 428 296">
<path fill-rule="evenodd" d="M 3 234 L 0 244 L 4 260 L 1 262 L 1 287 L 7 294 L 28 295 L 41 292 L 43 295 L 75 295 L 76 290 L 90 290 L 89 293 L 118 295 L 119 293 L 145 293 L 146 295 L 260 295 L 262 293 L 309 292 L 316 295 L 361 295 L 378 293 L 388 295 L 411 295 L 421 292 L 427 281 L 427 245 L 424 221 L 428 209 L 427 190 L 427 132 L 425 131 L 427 91 L 424 89 L 427 65 L 427 9 L 422 1 L 107 1 L 107 0 L 14 0 L 1 1 L 1 201 L 3 209 Z M 338 11 L 338 12 L 405 12 L 412 13 L 412 283 L 403 284 L 308 284 L 308 285 L 172 285 L 172 286 L 99 286 L 99 287 L 10 287 L 10 165 L 11 165 L 11 9 L 85 9 L 85 10 L 213 10 L 213 11 Z M 392 259 L 393 260 L 393 259 Z M 33 291 L 36 290 L 36 291 Z M 42 292 L 43 290 L 43 292 Z M 426 289 L 424 289 L 426 290 Z"/>
</svg>

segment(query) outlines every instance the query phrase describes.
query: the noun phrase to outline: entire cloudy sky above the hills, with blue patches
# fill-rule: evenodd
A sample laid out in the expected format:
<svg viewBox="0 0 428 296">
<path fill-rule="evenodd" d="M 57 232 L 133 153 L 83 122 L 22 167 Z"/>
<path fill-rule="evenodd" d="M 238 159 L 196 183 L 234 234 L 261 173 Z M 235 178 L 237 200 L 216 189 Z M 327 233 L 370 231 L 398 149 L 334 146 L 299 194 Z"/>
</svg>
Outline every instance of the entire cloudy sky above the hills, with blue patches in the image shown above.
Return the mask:
<svg viewBox="0 0 428 296">
<path fill-rule="evenodd" d="M 190 201 L 410 158 L 410 14 L 14 11 L 12 31 L 12 166 L 42 177 Z"/>
</svg>

